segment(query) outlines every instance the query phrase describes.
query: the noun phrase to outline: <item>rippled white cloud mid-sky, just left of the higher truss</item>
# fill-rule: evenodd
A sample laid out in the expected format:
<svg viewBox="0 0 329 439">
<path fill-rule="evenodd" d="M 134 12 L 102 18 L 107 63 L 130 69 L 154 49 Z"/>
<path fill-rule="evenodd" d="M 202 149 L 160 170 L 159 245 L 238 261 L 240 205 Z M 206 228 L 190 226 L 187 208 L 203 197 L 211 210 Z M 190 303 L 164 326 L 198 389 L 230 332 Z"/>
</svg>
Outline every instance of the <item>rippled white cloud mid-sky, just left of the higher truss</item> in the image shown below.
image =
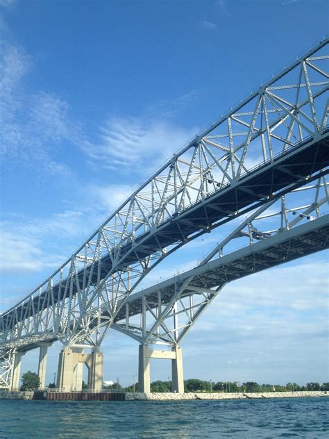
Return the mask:
<svg viewBox="0 0 329 439">
<path fill-rule="evenodd" d="M 169 122 L 147 123 L 138 118 L 108 119 L 101 127 L 100 142 L 85 142 L 93 163 L 106 169 L 147 175 L 178 151 L 197 129 L 183 129 Z"/>
</svg>

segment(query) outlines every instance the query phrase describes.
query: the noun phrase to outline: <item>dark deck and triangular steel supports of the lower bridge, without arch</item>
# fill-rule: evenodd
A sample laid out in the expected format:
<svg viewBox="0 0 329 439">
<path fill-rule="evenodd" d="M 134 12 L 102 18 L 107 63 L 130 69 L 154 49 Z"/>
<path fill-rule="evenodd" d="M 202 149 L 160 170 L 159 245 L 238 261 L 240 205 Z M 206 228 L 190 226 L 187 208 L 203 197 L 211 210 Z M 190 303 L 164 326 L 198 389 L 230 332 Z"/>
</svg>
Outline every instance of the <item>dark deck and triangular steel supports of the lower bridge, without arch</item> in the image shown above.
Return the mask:
<svg viewBox="0 0 329 439">
<path fill-rule="evenodd" d="M 328 248 L 327 214 L 131 295 L 126 310 L 117 314 L 112 328 L 141 343 L 179 344 L 227 283 Z M 147 318 L 142 322 L 140 315 L 144 307 Z M 175 313 L 182 320 L 176 324 Z M 133 323 L 138 320 L 140 325 Z"/>
</svg>

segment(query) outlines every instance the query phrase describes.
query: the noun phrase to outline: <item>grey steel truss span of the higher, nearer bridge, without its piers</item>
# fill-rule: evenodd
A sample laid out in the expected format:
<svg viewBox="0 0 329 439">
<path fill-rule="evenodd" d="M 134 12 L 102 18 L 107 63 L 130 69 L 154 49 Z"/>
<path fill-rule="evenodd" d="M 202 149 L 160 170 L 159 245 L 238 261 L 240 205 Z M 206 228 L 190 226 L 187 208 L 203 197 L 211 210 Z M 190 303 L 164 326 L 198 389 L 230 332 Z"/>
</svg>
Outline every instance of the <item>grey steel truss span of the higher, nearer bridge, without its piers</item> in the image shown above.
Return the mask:
<svg viewBox="0 0 329 439">
<path fill-rule="evenodd" d="M 99 346 L 130 294 L 167 255 L 325 175 L 327 48 L 323 40 L 168 160 L 1 315 L 3 342 L 27 347 L 42 336 Z"/>
</svg>

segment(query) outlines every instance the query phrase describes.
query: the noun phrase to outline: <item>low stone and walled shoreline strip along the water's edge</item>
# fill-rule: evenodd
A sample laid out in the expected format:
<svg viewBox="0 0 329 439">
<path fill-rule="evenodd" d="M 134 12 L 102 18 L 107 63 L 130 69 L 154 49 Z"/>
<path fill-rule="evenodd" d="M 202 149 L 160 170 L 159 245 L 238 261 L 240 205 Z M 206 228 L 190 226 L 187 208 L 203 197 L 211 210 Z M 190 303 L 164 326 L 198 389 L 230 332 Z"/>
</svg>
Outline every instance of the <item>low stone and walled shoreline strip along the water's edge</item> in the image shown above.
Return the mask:
<svg viewBox="0 0 329 439">
<path fill-rule="evenodd" d="M 56 395 L 56 396 L 55 396 Z M 89 397 L 87 395 L 90 395 Z M 110 396 L 113 395 L 113 396 Z M 80 397 L 79 397 L 80 396 Z M 329 397 L 326 391 L 259 392 L 259 393 L 104 393 L 104 392 L 47 392 L 0 390 L 0 399 L 23 399 L 42 401 L 219 401 L 224 399 L 275 399 Z"/>
</svg>

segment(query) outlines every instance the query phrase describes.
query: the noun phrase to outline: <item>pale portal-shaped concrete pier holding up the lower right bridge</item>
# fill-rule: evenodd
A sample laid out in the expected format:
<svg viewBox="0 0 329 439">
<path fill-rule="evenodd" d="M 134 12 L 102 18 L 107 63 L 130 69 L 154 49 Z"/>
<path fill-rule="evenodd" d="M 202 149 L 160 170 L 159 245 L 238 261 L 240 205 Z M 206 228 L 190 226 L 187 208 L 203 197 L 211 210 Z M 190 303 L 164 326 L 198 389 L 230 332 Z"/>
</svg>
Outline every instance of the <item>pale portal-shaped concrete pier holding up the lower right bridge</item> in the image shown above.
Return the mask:
<svg viewBox="0 0 329 439">
<path fill-rule="evenodd" d="M 150 359 L 171 360 L 172 392 L 184 393 L 182 348 L 175 346 L 171 351 L 152 350 L 149 345 L 140 345 L 138 363 L 138 391 L 151 392 Z"/>
</svg>

